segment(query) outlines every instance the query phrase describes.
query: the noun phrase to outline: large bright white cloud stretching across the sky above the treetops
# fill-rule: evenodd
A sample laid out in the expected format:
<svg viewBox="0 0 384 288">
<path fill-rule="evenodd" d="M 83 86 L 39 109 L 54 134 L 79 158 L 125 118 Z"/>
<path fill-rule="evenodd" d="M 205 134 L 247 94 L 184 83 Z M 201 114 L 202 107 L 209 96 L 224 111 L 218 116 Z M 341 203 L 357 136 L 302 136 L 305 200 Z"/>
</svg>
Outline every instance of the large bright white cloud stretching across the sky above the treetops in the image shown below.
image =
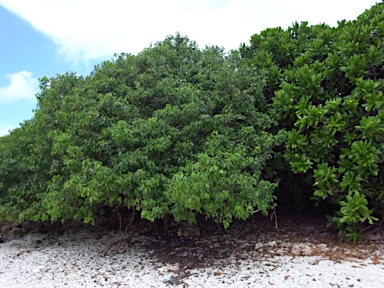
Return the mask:
<svg viewBox="0 0 384 288">
<path fill-rule="evenodd" d="M 0 0 L 78 62 L 140 52 L 179 31 L 204 47 L 236 49 L 268 27 L 352 20 L 376 0 Z"/>
</svg>

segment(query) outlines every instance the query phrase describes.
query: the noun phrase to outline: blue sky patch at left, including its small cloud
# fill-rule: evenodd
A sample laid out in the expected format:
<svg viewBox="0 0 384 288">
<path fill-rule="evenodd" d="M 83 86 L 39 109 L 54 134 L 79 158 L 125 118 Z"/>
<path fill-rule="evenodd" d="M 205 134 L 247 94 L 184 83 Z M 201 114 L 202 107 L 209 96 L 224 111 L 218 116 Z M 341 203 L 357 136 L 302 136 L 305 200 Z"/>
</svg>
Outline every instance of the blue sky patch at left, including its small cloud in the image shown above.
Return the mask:
<svg viewBox="0 0 384 288">
<path fill-rule="evenodd" d="M 60 59 L 57 49 L 47 35 L 0 6 L 0 136 L 33 117 L 39 78 L 66 71 L 86 75 L 99 62 L 74 64 Z"/>
</svg>

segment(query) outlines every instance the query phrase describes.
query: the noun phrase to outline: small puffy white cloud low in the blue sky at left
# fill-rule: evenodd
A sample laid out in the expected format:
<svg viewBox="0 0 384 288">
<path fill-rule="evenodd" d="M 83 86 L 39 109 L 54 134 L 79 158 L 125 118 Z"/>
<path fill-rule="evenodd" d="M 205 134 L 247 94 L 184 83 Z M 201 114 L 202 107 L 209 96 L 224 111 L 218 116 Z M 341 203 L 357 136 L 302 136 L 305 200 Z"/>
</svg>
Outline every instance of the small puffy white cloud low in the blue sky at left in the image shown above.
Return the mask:
<svg viewBox="0 0 384 288">
<path fill-rule="evenodd" d="M 11 103 L 17 100 L 35 100 L 39 81 L 28 71 L 8 74 L 9 84 L 0 87 L 0 103 Z"/>
</svg>

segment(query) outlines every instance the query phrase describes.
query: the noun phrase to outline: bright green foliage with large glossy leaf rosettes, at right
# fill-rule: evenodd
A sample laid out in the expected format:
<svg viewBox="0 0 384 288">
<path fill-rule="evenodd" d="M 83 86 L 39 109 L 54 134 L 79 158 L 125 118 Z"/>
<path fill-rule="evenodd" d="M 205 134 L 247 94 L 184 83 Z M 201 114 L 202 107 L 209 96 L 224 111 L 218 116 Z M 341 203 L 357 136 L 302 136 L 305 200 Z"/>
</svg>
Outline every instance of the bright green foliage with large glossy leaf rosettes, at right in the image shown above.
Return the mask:
<svg viewBox="0 0 384 288">
<path fill-rule="evenodd" d="M 339 205 L 332 221 L 352 241 L 384 214 L 383 40 L 377 4 L 337 28 L 268 29 L 241 49 L 269 76 L 291 170 L 310 175 L 317 201 Z"/>
</svg>

